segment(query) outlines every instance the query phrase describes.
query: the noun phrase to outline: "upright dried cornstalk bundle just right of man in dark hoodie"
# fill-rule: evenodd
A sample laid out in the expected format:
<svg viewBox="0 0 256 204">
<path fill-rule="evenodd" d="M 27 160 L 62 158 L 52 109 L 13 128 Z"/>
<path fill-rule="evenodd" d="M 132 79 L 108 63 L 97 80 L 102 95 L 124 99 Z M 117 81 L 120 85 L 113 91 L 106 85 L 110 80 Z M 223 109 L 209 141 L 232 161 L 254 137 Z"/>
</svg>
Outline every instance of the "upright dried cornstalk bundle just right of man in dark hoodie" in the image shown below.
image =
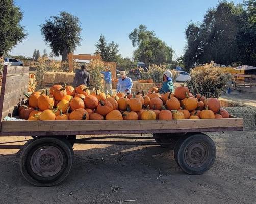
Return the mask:
<svg viewBox="0 0 256 204">
<path fill-rule="evenodd" d="M 103 91 L 102 75 L 100 71 L 104 70 L 104 63 L 100 60 L 91 60 L 87 68 L 90 70 L 90 86 L 96 90 Z"/>
</svg>

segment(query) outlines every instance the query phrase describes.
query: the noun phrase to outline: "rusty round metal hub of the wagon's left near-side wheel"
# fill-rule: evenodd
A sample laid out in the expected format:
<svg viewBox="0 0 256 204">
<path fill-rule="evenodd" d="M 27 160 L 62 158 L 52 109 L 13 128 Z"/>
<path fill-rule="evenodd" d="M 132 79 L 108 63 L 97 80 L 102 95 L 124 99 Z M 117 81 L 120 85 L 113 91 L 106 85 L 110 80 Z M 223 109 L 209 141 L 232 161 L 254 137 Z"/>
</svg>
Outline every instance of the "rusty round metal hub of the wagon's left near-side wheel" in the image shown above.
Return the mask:
<svg viewBox="0 0 256 204">
<path fill-rule="evenodd" d="M 41 177 L 57 174 L 63 165 L 63 155 L 54 146 L 43 146 L 34 151 L 30 159 L 32 171 Z"/>
</svg>

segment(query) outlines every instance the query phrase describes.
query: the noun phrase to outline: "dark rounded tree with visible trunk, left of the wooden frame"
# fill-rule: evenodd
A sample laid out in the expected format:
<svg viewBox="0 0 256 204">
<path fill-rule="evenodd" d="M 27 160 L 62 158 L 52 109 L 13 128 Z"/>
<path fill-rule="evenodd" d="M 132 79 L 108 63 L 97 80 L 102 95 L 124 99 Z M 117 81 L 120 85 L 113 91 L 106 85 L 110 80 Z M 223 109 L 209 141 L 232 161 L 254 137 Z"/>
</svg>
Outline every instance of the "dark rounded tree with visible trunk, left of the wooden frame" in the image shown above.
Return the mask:
<svg viewBox="0 0 256 204">
<path fill-rule="evenodd" d="M 67 61 L 68 53 L 74 52 L 82 40 L 80 20 L 67 12 L 50 17 L 41 24 L 41 32 L 56 56 L 62 55 L 62 62 Z"/>
</svg>

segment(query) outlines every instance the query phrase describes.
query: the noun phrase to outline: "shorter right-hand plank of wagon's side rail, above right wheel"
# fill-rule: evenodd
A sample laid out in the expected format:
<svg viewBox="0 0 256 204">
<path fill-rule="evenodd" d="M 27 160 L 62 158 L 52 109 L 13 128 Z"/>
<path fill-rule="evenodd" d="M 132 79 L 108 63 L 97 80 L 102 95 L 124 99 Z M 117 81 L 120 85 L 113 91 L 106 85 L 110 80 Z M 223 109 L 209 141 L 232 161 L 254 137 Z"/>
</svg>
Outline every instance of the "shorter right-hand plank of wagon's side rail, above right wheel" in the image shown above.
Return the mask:
<svg viewBox="0 0 256 204">
<path fill-rule="evenodd" d="M 199 119 L 199 120 L 178 120 L 177 129 L 201 129 L 213 127 L 243 127 L 243 119 Z"/>
</svg>

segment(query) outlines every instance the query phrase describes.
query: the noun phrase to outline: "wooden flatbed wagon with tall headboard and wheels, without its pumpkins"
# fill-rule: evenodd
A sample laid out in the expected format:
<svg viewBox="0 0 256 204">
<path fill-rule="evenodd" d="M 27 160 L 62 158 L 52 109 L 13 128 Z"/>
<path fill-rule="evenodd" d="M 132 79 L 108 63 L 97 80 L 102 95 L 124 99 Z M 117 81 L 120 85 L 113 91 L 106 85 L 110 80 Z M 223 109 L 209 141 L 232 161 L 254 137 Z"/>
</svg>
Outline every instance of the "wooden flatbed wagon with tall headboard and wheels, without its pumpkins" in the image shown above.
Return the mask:
<svg viewBox="0 0 256 204">
<path fill-rule="evenodd" d="M 32 136 L 33 139 L 24 145 L 1 143 L 0 148 L 20 149 L 20 171 L 36 186 L 52 186 L 68 176 L 75 143 L 160 145 L 174 150 L 175 161 L 184 172 L 202 174 L 211 168 L 216 158 L 215 144 L 205 132 L 243 130 L 243 119 L 234 116 L 200 120 L 4 121 L 6 116 L 15 117 L 18 107 L 24 103 L 28 78 L 28 67 L 4 67 L 0 136 Z M 152 137 L 129 136 L 135 133 L 151 133 Z M 100 136 L 106 134 L 111 135 Z M 77 135 L 84 137 L 77 139 Z M 124 138 L 132 141 L 121 140 Z M 155 142 L 134 140 L 150 138 Z"/>
</svg>

